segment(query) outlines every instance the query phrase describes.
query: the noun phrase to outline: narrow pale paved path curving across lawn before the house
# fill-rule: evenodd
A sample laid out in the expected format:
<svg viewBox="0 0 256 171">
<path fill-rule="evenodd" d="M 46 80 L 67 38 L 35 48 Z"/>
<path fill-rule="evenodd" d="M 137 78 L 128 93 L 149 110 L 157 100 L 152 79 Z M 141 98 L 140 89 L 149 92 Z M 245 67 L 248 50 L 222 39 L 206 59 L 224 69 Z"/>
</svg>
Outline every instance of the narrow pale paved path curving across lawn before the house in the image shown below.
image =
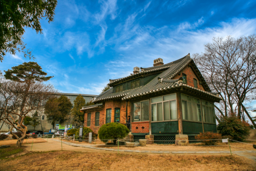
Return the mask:
<svg viewBox="0 0 256 171">
<path fill-rule="evenodd" d="M 60 142 L 60 140 L 53 139 L 54 141 Z M 79 147 L 84 147 L 84 148 L 92 148 L 92 149 L 100 149 L 100 150 L 105 150 L 105 151 L 118 151 L 117 149 L 113 148 L 99 148 L 95 147 L 92 145 L 84 145 L 84 144 L 76 144 L 72 142 L 66 142 L 62 141 L 62 143 L 67 144 L 67 145 L 72 145 L 72 146 L 79 146 Z M 216 153 L 225 153 L 228 154 L 230 151 L 138 151 L 138 150 L 128 150 L 128 149 L 119 149 L 119 152 L 135 152 L 135 153 L 153 153 L 153 154 L 216 154 Z M 243 156 L 248 159 L 252 159 L 256 161 L 256 157 L 247 155 L 245 153 L 256 153 L 256 151 L 232 151 L 232 154 L 236 154 L 238 156 Z"/>
</svg>

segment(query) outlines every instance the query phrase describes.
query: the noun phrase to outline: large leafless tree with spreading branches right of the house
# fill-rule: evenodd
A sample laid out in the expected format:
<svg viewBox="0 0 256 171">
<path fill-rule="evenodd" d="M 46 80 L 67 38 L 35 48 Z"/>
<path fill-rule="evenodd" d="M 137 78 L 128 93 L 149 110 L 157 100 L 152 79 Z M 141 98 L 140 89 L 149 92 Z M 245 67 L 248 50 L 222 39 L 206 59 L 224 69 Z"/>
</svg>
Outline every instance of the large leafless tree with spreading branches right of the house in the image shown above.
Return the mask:
<svg viewBox="0 0 256 171">
<path fill-rule="evenodd" d="M 194 54 L 194 60 L 214 92 L 223 101 L 216 105 L 221 116 L 236 115 L 251 119 L 245 104 L 255 99 L 256 91 L 256 36 L 213 38 L 205 45 L 205 52 Z"/>
</svg>

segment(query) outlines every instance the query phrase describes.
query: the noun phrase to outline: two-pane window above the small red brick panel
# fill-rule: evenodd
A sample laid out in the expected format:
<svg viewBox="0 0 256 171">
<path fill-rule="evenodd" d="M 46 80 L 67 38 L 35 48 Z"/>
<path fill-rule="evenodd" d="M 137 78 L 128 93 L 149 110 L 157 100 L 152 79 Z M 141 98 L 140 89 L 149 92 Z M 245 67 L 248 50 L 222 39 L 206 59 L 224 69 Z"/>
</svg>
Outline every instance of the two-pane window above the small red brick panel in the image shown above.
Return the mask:
<svg viewBox="0 0 256 171">
<path fill-rule="evenodd" d="M 150 101 L 139 101 L 133 103 L 133 121 L 150 120 Z"/>
</svg>

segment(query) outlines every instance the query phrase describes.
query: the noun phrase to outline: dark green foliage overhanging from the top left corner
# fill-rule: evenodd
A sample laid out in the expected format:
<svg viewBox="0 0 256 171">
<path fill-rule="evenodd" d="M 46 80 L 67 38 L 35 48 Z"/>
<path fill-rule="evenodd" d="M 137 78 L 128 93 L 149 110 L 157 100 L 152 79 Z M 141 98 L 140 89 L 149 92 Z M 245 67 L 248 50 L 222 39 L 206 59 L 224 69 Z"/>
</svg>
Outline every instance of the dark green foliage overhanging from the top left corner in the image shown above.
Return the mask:
<svg viewBox="0 0 256 171">
<path fill-rule="evenodd" d="M 23 42 L 24 27 L 30 27 L 36 33 L 42 33 L 40 20 L 46 17 L 53 21 L 57 0 L 1 0 L 0 2 L 0 60 L 6 53 L 15 55 L 24 53 L 24 57 L 31 56 L 31 51 L 25 50 Z"/>
</svg>

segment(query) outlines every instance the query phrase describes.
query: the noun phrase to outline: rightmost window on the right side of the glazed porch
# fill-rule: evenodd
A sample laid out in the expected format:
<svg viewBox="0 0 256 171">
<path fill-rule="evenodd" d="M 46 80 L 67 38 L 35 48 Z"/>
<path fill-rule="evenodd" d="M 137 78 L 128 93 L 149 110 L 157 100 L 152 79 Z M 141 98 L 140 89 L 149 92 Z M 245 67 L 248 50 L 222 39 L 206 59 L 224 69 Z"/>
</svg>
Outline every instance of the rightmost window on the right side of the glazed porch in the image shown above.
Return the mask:
<svg viewBox="0 0 256 171">
<path fill-rule="evenodd" d="M 204 122 L 216 123 L 214 103 L 202 100 Z"/>
</svg>

